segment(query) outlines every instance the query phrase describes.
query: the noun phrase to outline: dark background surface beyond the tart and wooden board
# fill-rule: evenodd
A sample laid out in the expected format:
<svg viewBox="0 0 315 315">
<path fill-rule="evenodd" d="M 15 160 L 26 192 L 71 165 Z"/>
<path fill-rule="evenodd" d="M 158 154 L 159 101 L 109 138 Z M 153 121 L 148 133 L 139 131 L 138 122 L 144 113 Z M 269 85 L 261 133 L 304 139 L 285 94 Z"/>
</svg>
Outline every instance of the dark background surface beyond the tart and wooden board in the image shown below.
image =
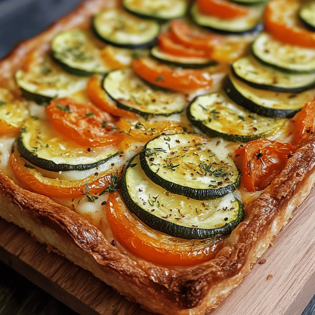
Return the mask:
<svg viewBox="0 0 315 315">
<path fill-rule="evenodd" d="M 80 2 L 81 0 L 0 0 L 0 58 L 17 42 L 35 36 Z M 77 313 L 0 262 L 0 315 L 61 314 Z M 303 315 L 315 315 L 315 297 Z"/>
</svg>

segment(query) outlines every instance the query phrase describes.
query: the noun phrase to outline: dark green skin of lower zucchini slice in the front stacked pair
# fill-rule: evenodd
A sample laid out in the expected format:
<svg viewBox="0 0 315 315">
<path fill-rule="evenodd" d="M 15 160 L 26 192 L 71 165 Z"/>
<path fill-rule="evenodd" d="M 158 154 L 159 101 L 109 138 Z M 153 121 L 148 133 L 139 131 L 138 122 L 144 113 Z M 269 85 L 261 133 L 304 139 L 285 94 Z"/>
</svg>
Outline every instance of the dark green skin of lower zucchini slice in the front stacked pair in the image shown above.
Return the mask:
<svg viewBox="0 0 315 315">
<path fill-rule="evenodd" d="M 127 168 L 123 172 L 121 178 L 121 194 L 129 211 L 135 214 L 140 219 L 140 221 L 142 221 L 152 229 L 183 239 L 206 239 L 229 234 L 232 232 L 233 229 L 235 229 L 238 226 L 238 224 L 241 221 L 243 221 L 244 219 L 243 204 L 236 198 L 234 194 L 231 194 L 231 197 L 237 200 L 238 202 L 239 206 L 238 217 L 236 220 L 226 223 L 224 226 L 218 228 L 201 229 L 195 227 L 180 226 L 178 224 L 174 224 L 172 222 L 163 220 L 162 218 L 159 218 L 155 215 L 152 215 L 151 213 L 137 205 L 129 195 L 126 181 L 126 170 L 130 167 L 130 165 L 132 165 L 133 161 L 134 159 L 132 159 L 129 162 Z"/>
</svg>

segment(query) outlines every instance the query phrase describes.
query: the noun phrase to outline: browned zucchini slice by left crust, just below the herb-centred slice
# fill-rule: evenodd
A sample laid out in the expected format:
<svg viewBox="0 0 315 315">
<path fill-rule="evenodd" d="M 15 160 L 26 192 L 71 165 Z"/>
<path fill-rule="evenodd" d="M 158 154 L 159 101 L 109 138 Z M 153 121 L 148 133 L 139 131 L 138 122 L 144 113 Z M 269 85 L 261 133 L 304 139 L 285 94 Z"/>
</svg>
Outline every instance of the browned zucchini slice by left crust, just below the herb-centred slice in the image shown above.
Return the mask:
<svg viewBox="0 0 315 315">
<path fill-rule="evenodd" d="M 18 70 L 15 80 L 22 96 L 47 105 L 53 98 L 69 97 L 86 88 L 87 79 L 64 72 L 51 60 L 33 66 L 28 72 Z"/>
</svg>

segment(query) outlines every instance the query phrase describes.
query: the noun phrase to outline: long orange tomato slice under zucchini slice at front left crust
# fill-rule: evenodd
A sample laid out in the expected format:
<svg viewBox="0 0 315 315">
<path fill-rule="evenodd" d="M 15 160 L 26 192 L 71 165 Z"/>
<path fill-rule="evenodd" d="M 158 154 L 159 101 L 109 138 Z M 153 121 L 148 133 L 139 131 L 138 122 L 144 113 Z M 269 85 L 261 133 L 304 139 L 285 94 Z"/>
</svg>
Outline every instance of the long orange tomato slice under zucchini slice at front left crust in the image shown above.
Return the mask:
<svg viewBox="0 0 315 315">
<path fill-rule="evenodd" d="M 89 193 L 95 195 L 112 184 L 111 173 L 94 175 L 85 180 L 60 180 L 44 177 L 40 172 L 37 172 L 33 166 L 27 163 L 22 165 L 22 161 L 24 161 L 24 159 L 22 160 L 21 157 L 17 158 L 14 154 L 11 154 L 9 163 L 16 179 L 27 190 L 45 195 L 49 198 L 82 197 L 83 193 L 87 193 L 85 185 L 88 186 Z M 119 171 L 119 174 L 120 172 L 121 171 Z"/>
</svg>

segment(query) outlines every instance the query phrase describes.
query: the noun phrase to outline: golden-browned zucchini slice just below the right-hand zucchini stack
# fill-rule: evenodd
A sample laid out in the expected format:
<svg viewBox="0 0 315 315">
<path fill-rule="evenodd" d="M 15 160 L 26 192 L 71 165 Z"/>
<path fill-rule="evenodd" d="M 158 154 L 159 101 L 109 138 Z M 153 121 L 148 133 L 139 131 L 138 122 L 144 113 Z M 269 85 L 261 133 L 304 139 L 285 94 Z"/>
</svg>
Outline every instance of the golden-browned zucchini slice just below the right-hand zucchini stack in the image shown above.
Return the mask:
<svg viewBox="0 0 315 315">
<path fill-rule="evenodd" d="M 191 123 L 210 137 L 248 142 L 273 135 L 285 122 L 247 111 L 222 93 L 197 97 L 187 108 Z"/>
</svg>

